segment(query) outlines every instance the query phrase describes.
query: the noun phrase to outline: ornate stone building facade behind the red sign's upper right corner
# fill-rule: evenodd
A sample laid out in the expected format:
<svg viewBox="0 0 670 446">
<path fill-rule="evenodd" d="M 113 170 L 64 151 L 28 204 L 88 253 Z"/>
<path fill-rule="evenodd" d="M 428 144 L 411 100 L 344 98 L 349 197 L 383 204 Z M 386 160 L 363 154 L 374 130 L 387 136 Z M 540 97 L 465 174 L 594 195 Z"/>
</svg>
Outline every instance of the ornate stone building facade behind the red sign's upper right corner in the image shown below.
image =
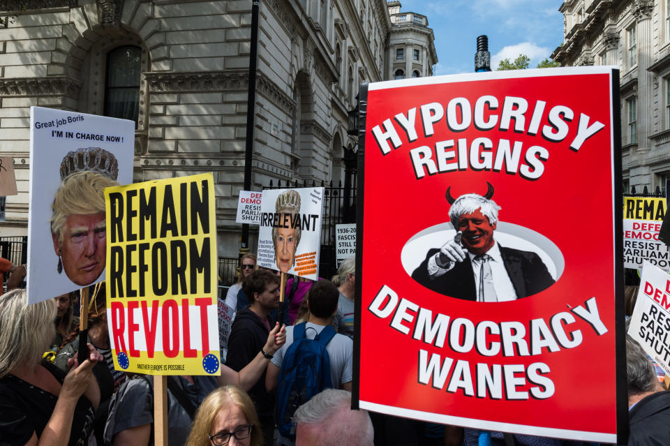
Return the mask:
<svg viewBox="0 0 670 446">
<path fill-rule="evenodd" d="M 620 68 L 624 190 L 670 178 L 670 1 L 566 0 L 562 66 Z"/>
</svg>

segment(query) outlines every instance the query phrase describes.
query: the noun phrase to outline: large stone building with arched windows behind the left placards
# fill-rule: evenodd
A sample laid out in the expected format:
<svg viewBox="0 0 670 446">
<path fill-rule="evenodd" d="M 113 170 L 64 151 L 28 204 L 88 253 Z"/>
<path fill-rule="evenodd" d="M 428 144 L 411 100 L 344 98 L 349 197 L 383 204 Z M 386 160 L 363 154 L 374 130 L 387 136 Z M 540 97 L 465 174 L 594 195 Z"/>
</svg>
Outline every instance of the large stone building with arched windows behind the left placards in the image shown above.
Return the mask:
<svg viewBox="0 0 670 446">
<path fill-rule="evenodd" d="M 20 191 L 6 199 L 0 235 L 26 234 L 29 107 L 39 105 L 135 119 L 135 181 L 214 172 L 219 255 L 237 255 L 251 6 L 0 0 L 0 154 L 13 157 Z M 253 190 L 271 179 L 343 178 L 358 85 L 392 73 L 388 8 L 384 0 L 260 0 Z M 415 31 L 421 38 L 403 36 L 421 51 L 421 75 L 437 62 L 427 24 Z"/>
</svg>

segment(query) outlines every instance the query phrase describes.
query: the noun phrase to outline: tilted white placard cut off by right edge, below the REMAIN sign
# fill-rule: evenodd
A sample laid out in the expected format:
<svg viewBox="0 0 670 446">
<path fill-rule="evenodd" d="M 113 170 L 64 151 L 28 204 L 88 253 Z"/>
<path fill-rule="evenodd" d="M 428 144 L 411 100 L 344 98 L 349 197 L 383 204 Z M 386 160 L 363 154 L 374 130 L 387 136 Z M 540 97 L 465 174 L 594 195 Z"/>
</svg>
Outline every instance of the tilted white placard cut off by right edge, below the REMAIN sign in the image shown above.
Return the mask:
<svg viewBox="0 0 670 446">
<path fill-rule="evenodd" d="M 670 275 L 646 260 L 628 334 L 670 375 Z"/>
</svg>

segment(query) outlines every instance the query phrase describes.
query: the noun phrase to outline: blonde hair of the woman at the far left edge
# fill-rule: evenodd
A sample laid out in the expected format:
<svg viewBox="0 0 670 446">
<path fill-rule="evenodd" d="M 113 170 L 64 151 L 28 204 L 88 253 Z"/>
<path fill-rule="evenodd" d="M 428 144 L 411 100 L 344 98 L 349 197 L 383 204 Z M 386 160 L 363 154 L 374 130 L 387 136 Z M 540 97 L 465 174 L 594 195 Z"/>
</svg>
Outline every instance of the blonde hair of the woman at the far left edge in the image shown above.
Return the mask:
<svg viewBox="0 0 670 446">
<path fill-rule="evenodd" d="M 0 378 L 17 366 L 34 366 L 56 334 L 56 302 L 27 304 L 26 290 L 0 296 Z"/>
</svg>

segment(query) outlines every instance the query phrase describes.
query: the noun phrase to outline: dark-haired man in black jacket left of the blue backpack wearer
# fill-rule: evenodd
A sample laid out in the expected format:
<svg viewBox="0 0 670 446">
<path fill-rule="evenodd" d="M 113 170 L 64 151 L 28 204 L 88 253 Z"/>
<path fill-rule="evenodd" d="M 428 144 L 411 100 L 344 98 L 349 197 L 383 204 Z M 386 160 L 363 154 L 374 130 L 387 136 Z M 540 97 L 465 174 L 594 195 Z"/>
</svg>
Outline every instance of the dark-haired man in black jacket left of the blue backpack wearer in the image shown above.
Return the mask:
<svg viewBox="0 0 670 446">
<path fill-rule="evenodd" d="M 262 348 L 271 327 L 274 327 L 274 321 L 269 313 L 279 305 L 277 276 L 265 269 L 259 269 L 244 279 L 242 290 L 250 298 L 251 304 L 235 315 L 228 338 L 228 356 L 225 362 L 225 365 L 236 371 L 251 362 L 258 352 L 271 358 L 271 355 Z M 248 393 L 258 412 L 264 443 L 271 445 L 274 436 L 272 419 L 274 396 L 265 389 L 265 372 Z"/>
</svg>

